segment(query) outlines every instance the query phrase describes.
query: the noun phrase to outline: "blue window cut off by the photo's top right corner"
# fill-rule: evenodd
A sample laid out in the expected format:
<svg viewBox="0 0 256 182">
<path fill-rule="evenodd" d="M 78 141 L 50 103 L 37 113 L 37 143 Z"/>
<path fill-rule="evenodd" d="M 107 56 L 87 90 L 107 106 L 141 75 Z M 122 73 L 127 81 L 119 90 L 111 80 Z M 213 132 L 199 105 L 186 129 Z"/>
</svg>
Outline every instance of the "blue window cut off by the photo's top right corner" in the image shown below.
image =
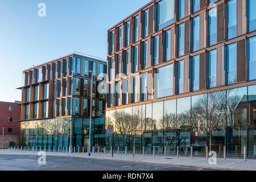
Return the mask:
<svg viewBox="0 0 256 182">
<path fill-rule="evenodd" d="M 256 1 L 247 0 L 247 31 L 251 32 L 256 30 Z"/>
</svg>

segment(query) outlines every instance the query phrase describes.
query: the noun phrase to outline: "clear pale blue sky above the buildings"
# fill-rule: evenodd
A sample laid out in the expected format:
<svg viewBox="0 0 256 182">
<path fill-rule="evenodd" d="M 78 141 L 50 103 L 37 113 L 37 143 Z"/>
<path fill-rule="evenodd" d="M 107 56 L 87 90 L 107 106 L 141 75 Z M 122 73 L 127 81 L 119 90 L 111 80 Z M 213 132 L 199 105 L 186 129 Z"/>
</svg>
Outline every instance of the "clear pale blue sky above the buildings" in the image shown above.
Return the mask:
<svg viewBox="0 0 256 182">
<path fill-rule="evenodd" d="M 21 100 L 22 71 L 74 51 L 106 59 L 107 31 L 150 0 L 0 0 L 0 101 Z M 38 16 L 39 3 L 46 17 Z"/>
</svg>

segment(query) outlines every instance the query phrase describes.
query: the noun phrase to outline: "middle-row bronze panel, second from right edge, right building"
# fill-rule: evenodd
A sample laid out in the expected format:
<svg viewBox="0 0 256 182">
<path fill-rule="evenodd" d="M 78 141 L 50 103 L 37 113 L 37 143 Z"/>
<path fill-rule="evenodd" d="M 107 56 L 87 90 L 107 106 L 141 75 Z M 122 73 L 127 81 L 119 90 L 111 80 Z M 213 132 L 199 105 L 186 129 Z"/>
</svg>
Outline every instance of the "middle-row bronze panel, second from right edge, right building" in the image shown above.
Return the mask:
<svg viewBox="0 0 256 182">
<path fill-rule="evenodd" d="M 217 42 L 225 39 L 224 3 L 217 6 Z"/>
</svg>

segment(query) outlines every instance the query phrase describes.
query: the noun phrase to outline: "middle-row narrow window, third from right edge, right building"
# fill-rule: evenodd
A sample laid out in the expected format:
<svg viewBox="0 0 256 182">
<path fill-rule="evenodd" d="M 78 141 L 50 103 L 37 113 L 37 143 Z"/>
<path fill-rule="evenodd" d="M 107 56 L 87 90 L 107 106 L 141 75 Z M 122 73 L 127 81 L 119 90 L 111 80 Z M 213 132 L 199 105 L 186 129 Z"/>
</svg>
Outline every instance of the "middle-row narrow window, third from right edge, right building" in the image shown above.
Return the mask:
<svg viewBox="0 0 256 182">
<path fill-rule="evenodd" d="M 217 43 L 217 7 L 208 12 L 208 46 Z"/>
</svg>

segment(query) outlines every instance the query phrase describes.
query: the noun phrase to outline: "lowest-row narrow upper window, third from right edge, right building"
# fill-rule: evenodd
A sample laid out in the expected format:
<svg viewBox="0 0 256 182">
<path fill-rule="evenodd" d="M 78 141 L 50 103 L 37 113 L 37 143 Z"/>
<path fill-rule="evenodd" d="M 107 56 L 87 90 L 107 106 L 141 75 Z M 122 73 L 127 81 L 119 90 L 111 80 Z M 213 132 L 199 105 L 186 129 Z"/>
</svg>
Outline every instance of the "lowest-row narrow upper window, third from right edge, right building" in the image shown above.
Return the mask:
<svg viewBox="0 0 256 182">
<path fill-rule="evenodd" d="M 217 50 L 208 52 L 208 88 L 217 86 Z"/>
</svg>

